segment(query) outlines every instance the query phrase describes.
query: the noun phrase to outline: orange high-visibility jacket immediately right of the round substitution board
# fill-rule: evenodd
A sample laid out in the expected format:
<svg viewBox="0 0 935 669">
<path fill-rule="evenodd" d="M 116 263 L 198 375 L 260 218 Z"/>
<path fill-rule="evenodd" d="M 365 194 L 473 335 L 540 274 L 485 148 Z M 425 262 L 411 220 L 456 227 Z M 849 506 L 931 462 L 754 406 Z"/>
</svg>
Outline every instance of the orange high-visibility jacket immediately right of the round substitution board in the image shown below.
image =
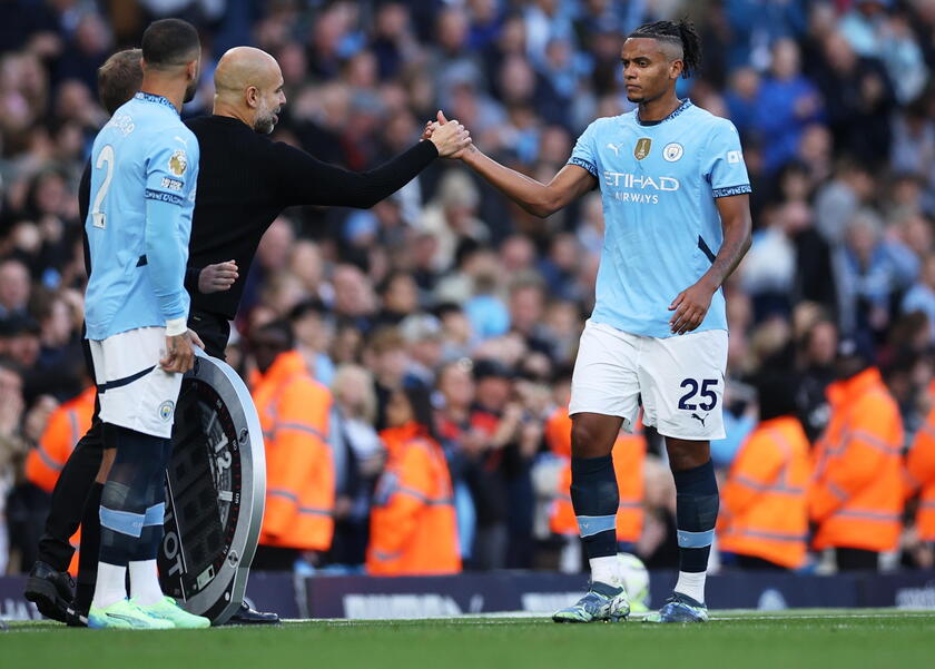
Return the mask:
<svg viewBox="0 0 935 669">
<path fill-rule="evenodd" d="M 325 551 L 334 534 L 331 392 L 297 351 L 276 357 L 253 392 L 266 447 L 266 511 L 259 543 Z"/>
</svg>

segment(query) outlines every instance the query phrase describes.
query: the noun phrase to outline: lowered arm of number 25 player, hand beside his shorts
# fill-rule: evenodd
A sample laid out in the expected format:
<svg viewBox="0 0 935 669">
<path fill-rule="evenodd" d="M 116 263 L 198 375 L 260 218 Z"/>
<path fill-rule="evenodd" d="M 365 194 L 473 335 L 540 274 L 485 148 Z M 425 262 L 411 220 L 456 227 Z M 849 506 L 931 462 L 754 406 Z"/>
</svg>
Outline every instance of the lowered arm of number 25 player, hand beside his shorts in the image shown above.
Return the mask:
<svg viewBox="0 0 935 669">
<path fill-rule="evenodd" d="M 695 285 L 679 293 L 669 305 L 669 311 L 675 312 L 669 321 L 675 334 L 685 334 L 701 325 L 715 291 L 721 287 L 750 248 L 750 196 L 731 195 L 715 201 L 724 228 L 724 243 L 708 272 Z"/>
</svg>

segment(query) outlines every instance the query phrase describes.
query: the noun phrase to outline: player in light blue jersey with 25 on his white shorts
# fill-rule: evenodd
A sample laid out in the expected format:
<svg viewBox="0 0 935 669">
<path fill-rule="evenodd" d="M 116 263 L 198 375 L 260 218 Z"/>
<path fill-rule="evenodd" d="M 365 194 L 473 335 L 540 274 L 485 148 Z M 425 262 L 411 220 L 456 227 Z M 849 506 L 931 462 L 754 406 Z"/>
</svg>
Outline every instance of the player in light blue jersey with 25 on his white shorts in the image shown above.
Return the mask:
<svg viewBox="0 0 935 669">
<path fill-rule="evenodd" d="M 549 184 L 474 147 L 461 155 L 537 216 L 601 189 L 607 232 L 597 305 L 581 335 L 569 406 L 571 498 L 591 587 L 554 614 L 558 622 L 629 614 L 617 558 L 611 449 L 621 426 L 633 427 L 640 397 L 643 422 L 666 437 L 680 551 L 675 592 L 648 619 L 708 618 L 705 572 L 718 514 L 709 440 L 725 435 L 727 318 L 720 286 L 749 248 L 750 186 L 734 125 L 676 95 L 676 81 L 697 69 L 699 57 L 690 23 L 660 21 L 631 33 L 622 50 L 623 79 L 638 109 L 592 122 Z"/>
</svg>

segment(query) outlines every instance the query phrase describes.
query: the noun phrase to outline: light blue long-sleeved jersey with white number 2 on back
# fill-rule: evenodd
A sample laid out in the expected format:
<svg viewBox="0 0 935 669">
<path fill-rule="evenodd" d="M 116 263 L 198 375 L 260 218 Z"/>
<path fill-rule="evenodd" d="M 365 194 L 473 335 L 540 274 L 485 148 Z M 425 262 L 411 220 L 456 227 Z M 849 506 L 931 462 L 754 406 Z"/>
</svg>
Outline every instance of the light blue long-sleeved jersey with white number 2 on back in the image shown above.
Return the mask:
<svg viewBox="0 0 935 669">
<path fill-rule="evenodd" d="M 139 92 L 95 138 L 85 220 L 89 340 L 188 316 L 185 265 L 198 140 L 169 100 Z"/>
</svg>

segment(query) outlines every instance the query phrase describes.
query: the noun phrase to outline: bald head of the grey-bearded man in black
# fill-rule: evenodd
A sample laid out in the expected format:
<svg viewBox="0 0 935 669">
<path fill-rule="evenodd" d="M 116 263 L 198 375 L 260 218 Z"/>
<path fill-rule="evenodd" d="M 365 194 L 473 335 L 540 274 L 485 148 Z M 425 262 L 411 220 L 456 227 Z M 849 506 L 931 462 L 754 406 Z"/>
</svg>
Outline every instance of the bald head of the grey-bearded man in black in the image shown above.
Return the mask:
<svg viewBox="0 0 935 669">
<path fill-rule="evenodd" d="M 215 70 L 215 114 L 235 116 L 268 135 L 286 104 L 279 63 L 266 51 L 235 47 Z"/>
</svg>

